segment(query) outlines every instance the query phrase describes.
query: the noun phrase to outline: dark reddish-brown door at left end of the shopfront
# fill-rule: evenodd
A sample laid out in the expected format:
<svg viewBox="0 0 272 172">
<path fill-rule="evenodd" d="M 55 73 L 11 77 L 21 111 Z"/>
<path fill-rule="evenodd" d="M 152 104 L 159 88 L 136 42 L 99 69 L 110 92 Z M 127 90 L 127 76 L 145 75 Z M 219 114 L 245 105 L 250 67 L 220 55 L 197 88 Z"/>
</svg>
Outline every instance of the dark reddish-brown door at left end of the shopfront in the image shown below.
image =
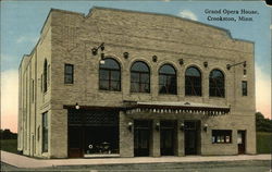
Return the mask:
<svg viewBox="0 0 272 172">
<path fill-rule="evenodd" d="M 83 157 L 83 130 L 79 126 L 69 126 L 69 157 Z"/>
</svg>

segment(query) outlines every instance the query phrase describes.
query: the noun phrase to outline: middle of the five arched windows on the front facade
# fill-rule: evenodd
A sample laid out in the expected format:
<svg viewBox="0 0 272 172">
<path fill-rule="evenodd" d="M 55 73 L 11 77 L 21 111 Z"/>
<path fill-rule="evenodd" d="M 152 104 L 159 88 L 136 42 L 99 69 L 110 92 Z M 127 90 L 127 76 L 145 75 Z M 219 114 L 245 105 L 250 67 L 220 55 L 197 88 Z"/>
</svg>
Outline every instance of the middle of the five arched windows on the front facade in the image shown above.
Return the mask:
<svg viewBox="0 0 272 172">
<path fill-rule="evenodd" d="M 176 95 L 176 72 L 171 64 L 164 64 L 159 70 L 159 93 Z"/>
</svg>

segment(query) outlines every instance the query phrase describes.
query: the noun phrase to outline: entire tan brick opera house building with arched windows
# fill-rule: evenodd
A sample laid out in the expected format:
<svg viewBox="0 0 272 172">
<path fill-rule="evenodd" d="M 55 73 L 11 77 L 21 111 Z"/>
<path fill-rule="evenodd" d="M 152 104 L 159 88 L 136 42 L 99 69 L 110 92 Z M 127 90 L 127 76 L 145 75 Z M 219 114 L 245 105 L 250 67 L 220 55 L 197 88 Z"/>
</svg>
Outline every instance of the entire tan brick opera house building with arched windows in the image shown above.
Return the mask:
<svg viewBox="0 0 272 172">
<path fill-rule="evenodd" d="M 256 153 L 254 42 L 219 27 L 52 9 L 18 79 L 27 156 Z"/>
</svg>

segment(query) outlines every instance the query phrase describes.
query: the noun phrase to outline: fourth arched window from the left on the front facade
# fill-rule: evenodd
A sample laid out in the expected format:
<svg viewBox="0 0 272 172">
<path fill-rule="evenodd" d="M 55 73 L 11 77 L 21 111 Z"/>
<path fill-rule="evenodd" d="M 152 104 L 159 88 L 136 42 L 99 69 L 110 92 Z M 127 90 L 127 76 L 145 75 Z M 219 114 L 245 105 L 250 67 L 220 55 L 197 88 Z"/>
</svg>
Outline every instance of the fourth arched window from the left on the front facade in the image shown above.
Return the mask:
<svg viewBox="0 0 272 172">
<path fill-rule="evenodd" d="M 197 67 L 190 66 L 185 72 L 185 95 L 201 96 L 201 73 Z"/>
</svg>

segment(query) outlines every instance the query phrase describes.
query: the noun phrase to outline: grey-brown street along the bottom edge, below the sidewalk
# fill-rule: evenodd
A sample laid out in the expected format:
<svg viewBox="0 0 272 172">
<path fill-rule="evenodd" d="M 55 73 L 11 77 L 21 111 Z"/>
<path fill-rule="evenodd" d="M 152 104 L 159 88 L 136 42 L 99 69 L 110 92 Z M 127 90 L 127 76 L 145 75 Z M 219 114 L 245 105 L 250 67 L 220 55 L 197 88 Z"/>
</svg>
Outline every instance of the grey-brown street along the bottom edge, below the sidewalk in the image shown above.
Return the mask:
<svg viewBox="0 0 272 172">
<path fill-rule="evenodd" d="M 225 162 L 178 162 L 178 163 L 138 163 L 138 164 L 102 164 L 102 165 L 63 165 L 40 169 L 20 169 L 1 162 L 1 171 L 76 171 L 76 172 L 111 172 L 111 171 L 184 171 L 184 172 L 270 172 L 269 160 L 246 160 Z"/>
</svg>

